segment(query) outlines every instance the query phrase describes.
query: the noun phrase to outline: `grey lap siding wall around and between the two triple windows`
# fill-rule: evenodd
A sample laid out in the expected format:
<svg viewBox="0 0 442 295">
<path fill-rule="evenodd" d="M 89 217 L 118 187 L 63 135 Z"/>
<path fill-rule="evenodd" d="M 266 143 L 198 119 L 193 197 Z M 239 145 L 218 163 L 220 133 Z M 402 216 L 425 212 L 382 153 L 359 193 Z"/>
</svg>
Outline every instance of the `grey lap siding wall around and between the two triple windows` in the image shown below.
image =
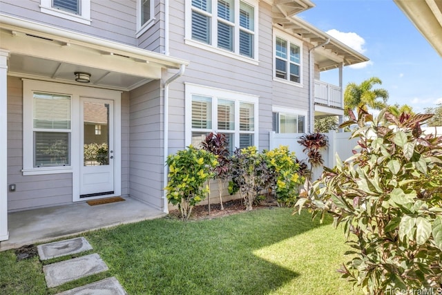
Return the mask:
<svg viewBox="0 0 442 295">
<path fill-rule="evenodd" d="M 184 82 L 259 96 L 260 149 L 269 147 L 272 104 L 271 6 L 260 2 L 259 65 L 184 44 L 184 1 L 170 8 L 171 55 L 191 61 L 183 77 L 171 84 L 169 154 L 184 149 Z M 270 42 L 270 43 L 269 43 Z M 169 75 L 172 75 L 170 73 Z"/>
</svg>

